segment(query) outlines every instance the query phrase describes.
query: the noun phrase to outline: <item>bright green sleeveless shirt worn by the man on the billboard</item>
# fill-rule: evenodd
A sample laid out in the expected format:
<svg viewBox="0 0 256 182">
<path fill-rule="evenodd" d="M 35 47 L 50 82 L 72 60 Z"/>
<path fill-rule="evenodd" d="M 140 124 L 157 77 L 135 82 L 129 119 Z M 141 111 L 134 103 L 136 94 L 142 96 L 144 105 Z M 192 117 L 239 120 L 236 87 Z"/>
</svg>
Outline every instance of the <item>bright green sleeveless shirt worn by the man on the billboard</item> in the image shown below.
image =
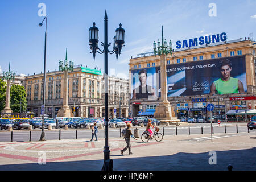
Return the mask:
<svg viewBox="0 0 256 182">
<path fill-rule="evenodd" d="M 219 94 L 238 93 L 238 79 L 230 77 L 229 81 L 220 79 L 214 81 L 216 91 Z"/>
</svg>

